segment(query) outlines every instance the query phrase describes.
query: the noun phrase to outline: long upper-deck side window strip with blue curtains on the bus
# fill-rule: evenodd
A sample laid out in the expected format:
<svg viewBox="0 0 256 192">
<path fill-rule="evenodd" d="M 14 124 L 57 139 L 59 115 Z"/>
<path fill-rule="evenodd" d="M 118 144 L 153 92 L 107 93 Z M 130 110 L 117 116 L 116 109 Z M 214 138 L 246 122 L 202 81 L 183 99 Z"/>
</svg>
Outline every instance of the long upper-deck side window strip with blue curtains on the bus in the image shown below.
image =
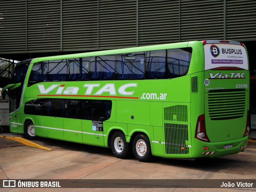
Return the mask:
<svg viewBox="0 0 256 192">
<path fill-rule="evenodd" d="M 186 75 L 192 48 L 174 48 L 34 63 L 28 86 L 48 81 L 167 79 Z"/>
</svg>

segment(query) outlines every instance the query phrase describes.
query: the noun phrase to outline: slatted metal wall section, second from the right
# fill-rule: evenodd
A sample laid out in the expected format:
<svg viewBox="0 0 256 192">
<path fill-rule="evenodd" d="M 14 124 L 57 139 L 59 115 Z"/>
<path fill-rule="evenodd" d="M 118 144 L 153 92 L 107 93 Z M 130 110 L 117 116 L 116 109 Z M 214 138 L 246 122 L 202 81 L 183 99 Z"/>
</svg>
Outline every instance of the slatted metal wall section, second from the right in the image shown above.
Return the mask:
<svg viewBox="0 0 256 192">
<path fill-rule="evenodd" d="M 223 39 L 223 8 L 223 0 L 180 0 L 180 41 Z"/>
</svg>

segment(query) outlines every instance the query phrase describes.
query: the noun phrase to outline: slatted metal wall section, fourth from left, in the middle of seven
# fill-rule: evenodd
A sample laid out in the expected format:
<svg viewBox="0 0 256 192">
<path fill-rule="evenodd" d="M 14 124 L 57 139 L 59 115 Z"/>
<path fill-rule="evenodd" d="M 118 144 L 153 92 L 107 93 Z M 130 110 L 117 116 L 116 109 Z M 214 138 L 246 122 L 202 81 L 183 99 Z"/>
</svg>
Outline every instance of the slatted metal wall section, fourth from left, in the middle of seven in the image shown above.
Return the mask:
<svg viewBox="0 0 256 192">
<path fill-rule="evenodd" d="M 99 1 L 99 48 L 136 46 L 136 0 Z"/>
</svg>

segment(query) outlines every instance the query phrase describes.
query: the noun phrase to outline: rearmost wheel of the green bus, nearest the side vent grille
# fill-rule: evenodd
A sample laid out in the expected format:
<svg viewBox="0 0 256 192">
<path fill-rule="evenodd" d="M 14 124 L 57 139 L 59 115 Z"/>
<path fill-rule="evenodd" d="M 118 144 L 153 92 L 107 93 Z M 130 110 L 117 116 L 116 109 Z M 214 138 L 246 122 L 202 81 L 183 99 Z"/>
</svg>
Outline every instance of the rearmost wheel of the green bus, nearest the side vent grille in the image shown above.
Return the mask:
<svg viewBox="0 0 256 192">
<path fill-rule="evenodd" d="M 153 158 L 150 141 L 146 134 L 138 134 L 132 142 L 132 150 L 136 159 L 141 162 L 150 162 Z"/>
</svg>

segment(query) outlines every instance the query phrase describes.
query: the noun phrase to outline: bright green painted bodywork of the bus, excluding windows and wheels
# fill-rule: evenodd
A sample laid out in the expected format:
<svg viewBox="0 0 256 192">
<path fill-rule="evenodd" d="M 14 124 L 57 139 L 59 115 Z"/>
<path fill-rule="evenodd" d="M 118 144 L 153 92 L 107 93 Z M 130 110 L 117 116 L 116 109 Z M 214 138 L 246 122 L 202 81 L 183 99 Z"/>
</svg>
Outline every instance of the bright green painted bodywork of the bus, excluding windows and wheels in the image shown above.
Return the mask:
<svg viewBox="0 0 256 192">
<path fill-rule="evenodd" d="M 32 64 L 40 61 L 186 47 L 192 48 L 190 68 L 186 75 L 177 78 L 40 82 L 27 86 Z M 32 60 L 24 82 L 20 108 L 10 114 L 10 130 L 23 132 L 25 121 L 30 119 L 38 136 L 102 147 L 110 147 L 109 141 L 116 130 L 124 133 L 127 142 L 132 142 L 136 134 L 143 132 L 151 142 L 152 154 L 164 158 L 216 157 L 237 153 L 248 139 L 243 135 L 249 105 L 249 72 L 236 69 L 236 74 L 239 72 L 244 78 L 214 79 L 233 70 L 205 70 L 204 54 L 202 42 L 195 41 L 36 58 Z M 210 79 L 210 84 L 205 84 L 206 79 Z M 248 86 L 238 88 L 240 84 Z M 241 117 L 212 120 L 212 112 L 208 110 L 209 91 L 220 88 L 232 90 L 232 93 L 244 89 L 245 112 Z M 24 114 L 25 103 L 36 98 L 111 100 L 111 116 L 102 120 L 102 130 L 96 130 L 92 120 Z M 202 114 L 205 115 L 210 142 L 195 138 L 198 116 Z M 225 144 L 233 146 L 224 150 Z M 214 153 L 203 154 L 208 151 Z"/>
</svg>

